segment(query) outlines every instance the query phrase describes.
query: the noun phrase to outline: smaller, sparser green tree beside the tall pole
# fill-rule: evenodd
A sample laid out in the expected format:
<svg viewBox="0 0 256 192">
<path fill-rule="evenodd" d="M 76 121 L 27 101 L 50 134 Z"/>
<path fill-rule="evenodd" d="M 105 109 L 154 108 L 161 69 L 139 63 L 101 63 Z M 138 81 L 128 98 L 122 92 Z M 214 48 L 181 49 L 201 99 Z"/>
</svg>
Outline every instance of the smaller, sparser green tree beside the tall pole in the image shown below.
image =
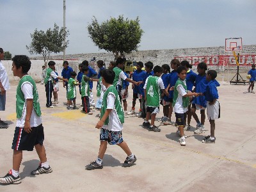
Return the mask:
<svg viewBox="0 0 256 192">
<path fill-rule="evenodd" d="M 63 52 L 68 47 L 68 40 L 65 44 L 63 41 L 69 35 L 69 31 L 65 30 L 65 28 L 59 29 L 56 24 L 54 24 L 54 29 L 49 28 L 45 32 L 35 29 L 35 32 L 30 35 L 32 42 L 29 47 L 26 45 L 26 48 L 30 54 L 41 54 L 44 57 L 45 65 L 51 52 Z"/>
</svg>

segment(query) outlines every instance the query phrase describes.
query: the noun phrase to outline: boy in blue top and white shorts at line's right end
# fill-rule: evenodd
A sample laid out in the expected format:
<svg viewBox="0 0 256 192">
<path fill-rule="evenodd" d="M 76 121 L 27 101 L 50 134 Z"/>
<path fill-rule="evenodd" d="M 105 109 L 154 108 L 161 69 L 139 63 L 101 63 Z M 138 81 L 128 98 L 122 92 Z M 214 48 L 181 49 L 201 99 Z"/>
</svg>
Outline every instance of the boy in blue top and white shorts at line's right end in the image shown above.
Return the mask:
<svg viewBox="0 0 256 192">
<path fill-rule="evenodd" d="M 206 136 L 203 143 L 215 143 L 215 120 L 220 118 L 220 103 L 218 90 L 216 86 L 220 86 L 218 81 L 215 80 L 217 77 L 217 72 L 215 70 L 208 70 L 206 74 L 207 86 L 204 92 L 205 99 L 207 100 L 207 116 L 211 125 L 211 136 Z"/>
</svg>

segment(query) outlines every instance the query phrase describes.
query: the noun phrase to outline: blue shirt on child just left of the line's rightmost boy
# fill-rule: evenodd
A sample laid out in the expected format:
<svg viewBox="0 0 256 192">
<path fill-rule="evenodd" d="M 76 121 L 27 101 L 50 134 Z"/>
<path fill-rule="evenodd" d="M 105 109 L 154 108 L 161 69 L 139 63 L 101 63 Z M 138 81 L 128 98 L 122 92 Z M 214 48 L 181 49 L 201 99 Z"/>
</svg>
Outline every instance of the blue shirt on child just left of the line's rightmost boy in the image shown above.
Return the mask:
<svg viewBox="0 0 256 192">
<path fill-rule="evenodd" d="M 198 74 L 196 76 L 196 81 L 195 81 L 195 92 L 196 93 L 204 93 L 206 90 L 207 84 L 208 84 L 208 81 L 206 81 L 206 76 L 200 76 Z M 195 97 L 195 99 L 193 100 L 193 104 L 198 104 L 198 105 L 206 108 L 205 96 L 202 95 L 202 96 Z"/>
</svg>

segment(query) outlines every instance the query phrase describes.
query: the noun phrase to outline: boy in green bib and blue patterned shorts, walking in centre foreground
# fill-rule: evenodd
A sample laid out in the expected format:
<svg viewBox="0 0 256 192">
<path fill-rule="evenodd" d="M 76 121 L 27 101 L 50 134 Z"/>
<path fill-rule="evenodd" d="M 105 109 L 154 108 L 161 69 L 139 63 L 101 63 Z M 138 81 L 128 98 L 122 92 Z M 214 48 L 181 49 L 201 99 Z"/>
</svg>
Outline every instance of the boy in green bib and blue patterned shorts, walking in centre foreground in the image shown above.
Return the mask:
<svg viewBox="0 0 256 192">
<path fill-rule="evenodd" d="M 137 160 L 122 137 L 124 111 L 120 103 L 118 92 L 115 86 L 113 86 L 114 79 L 115 72 L 113 72 L 113 70 L 103 70 L 102 83 L 106 86 L 106 91 L 103 95 L 100 121 L 95 126 L 97 129 L 100 129 L 99 155 L 96 161 L 86 165 L 86 170 L 103 168 L 102 159 L 108 143 L 110 145 L 118 145 L 127 154 L 124 164 L 122 164 L 123 167 L 132 166 Z"/>
</svg>

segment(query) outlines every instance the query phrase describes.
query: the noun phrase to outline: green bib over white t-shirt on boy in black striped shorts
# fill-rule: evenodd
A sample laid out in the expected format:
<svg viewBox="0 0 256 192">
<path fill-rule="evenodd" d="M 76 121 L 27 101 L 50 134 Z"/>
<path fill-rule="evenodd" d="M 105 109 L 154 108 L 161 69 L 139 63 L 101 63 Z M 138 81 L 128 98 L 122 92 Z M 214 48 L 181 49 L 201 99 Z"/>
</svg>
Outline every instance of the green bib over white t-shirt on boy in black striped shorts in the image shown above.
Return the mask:
<svg viewBox="0 0 256 192">
<path fill-rule="evenodd" d="M 41 109 L 38 99 L 38 92 L 34 79 L 31 76 L 23 76 L 17 86 L 16 93 L 16 114 L 17 127 L 24 127 L 26 118 L 27 99 L 33 99 L 33 109 L 30 118 L 31 127 L 42 124 Z"/>
</svg>

